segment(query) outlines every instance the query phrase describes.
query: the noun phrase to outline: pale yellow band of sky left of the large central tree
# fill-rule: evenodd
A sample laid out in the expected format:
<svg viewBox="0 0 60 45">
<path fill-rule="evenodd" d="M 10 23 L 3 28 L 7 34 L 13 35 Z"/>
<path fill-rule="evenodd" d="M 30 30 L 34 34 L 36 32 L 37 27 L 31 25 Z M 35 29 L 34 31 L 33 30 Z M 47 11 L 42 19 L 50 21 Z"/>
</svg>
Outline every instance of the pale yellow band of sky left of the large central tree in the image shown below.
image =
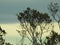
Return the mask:
<svg viewBox="0 0 60 45">
<path fill-rule="evenodd" d="M 7 32 L 8 36 L 19 35 L 16 31 L 19 28 L 19 23 L 0 24 L 0 26 Z"/>
</svg>

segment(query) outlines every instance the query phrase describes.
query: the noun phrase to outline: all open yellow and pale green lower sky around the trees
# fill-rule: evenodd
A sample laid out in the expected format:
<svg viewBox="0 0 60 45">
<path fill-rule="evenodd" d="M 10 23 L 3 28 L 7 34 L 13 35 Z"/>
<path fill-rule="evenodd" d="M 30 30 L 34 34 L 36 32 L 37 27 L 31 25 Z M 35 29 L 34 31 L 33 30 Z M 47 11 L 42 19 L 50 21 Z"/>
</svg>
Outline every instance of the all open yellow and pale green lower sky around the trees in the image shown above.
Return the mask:
<svg viewBox="0 0 60 45">
<path fill-rule="evenodd" d="M 55 25 L 54 30 L 60 34 L 58 24 L 54 23 L 54 25 Z M 16 31 L 16 29 L 20 30 L 21 28 L 19 23 L 0 24 L 0 26 L 2 27 L 2 29 L 4 29 L 7 32 L 6 37 L 5 37 L 6 42 L 11 42 L 11 43 L 14 42 L 15 44 L 16 41 L 20 39 L 20 36 L 18 32 Z M 43 34 L 43 37 L 48 36 L 48 35 L 49 35 L 49 32 Z"/>
</svg>

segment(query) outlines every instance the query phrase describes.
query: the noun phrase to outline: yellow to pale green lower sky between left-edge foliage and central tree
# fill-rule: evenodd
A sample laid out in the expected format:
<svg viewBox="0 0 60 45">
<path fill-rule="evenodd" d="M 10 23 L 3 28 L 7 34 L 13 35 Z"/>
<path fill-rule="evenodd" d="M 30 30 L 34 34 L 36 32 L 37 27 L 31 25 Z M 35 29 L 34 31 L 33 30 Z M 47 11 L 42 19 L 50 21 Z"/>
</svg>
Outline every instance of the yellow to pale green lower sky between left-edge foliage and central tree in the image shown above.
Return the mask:
<svg viewBox="0 0 60 45">
<path fill-rule="evenodd" d="M 0 24 L 7 34 L 5 35 L 5 42 L 16 44 L 20 41 L 20 36 L 16 29 L 19 29 L 19 23 Z"/>
</svg>

